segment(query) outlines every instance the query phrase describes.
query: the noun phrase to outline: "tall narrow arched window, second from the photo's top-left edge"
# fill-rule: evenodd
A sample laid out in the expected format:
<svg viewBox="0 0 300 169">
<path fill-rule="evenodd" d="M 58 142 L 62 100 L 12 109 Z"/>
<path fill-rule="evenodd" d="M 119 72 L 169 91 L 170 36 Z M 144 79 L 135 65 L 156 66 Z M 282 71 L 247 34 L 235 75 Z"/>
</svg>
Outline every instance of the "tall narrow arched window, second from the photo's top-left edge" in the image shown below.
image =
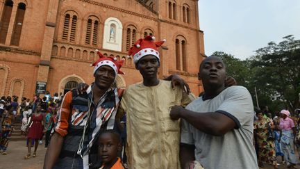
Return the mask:
<svg viewBox="0 0 300 169">
<path fill-rule="evenodd" d="M 26 5 L 25 3 L 19 3 L 17 8 L 17 14 L 15 18 L 15 25 L 12 29 L 12 40 L 10 42 L 10 45 L 19 46 L 19 40 L 21 38 L 21 31 L 24 21 L 24 15 L 25 15 Z"/>
</svg>

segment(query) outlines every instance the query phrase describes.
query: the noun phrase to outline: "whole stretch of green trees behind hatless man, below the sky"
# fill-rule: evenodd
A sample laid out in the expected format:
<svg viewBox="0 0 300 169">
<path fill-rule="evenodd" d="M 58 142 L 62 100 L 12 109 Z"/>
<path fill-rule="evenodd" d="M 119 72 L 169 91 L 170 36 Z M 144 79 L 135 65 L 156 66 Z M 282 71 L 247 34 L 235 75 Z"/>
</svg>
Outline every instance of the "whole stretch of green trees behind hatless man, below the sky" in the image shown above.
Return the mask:
<svg viewBox="0 0 300 169">
<path fill-rule="evenodd" d="M 271 111 L 299 108 L 300 93 L 300 40 L 293 35 L 283 37 L 283 41 L 269 42 L 246 61 L 240 61 L 231 54 L 216 51 L 226 64 L 228 75 L 234 77 L 238 85 L 245 86 L 253 96 L 257 88 L 260 106 L 269 106 Z"/>
</svg>

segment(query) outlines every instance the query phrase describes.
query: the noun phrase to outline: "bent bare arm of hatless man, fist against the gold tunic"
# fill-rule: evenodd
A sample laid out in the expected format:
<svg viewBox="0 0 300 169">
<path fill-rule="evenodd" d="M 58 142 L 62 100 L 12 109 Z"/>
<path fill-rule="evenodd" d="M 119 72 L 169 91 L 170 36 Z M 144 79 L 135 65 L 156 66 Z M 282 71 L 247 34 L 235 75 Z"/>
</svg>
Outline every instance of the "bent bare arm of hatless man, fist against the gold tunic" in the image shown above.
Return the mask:
<svg viewBox="0 0 300 169">
<path fill-rule="evenodd" d="M 213 136 L 223 136 L 231 129 L 237 127 L 234 120 L 222 113 L 196 113 L 182 106 L 173 106 L 170 116 L 172 120 L 183 118 L 196 127 L 196 129 Z"/>
</svg>

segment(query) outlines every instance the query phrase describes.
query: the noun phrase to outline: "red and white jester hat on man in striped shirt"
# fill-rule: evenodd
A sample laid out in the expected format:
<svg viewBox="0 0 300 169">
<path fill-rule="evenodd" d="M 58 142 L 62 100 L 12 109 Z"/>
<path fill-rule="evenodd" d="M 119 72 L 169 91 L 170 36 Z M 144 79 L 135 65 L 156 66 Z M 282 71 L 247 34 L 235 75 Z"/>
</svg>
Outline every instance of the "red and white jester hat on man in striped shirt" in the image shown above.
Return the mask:
<svg viewBox="0 0 300 169">
<path fill-rule="evenodd" d="M 103 65 L 108 65 L 115 70 L 115 75 L 117 77 L 117 74 L 124 74 L 120 69 L 124 63 L 124 60 L 117 61 L 117 58 L 111 57 L 111 56 L 103 56 L 103 54 L 100 53 L 98 49 L 96 49 L 97 54 L 99 55 L 99 59 L 94 62 L 91 66 L 94 66 L 94 73 L 99 69 L 99 67 Z"/>
</svg>

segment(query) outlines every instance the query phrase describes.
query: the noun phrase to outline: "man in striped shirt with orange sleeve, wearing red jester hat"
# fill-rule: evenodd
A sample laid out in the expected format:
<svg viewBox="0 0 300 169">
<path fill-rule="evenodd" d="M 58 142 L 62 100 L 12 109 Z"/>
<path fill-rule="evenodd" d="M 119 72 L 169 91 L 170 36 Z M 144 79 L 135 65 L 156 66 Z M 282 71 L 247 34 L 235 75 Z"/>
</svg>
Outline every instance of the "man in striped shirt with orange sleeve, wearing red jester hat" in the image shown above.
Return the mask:
<svg viewBox="0 0 300 169">
<path fill-rule="evenodd" d="M 103 56 L 94 66 L 94 83 L 87 92 L 67 92 L 58 111 L 44 168 L 89 168 L 97 158 L 95 138 L 105 129 L 113 129 L 123 90 L 113 88 L 124 61 Z"/>
</svg>

